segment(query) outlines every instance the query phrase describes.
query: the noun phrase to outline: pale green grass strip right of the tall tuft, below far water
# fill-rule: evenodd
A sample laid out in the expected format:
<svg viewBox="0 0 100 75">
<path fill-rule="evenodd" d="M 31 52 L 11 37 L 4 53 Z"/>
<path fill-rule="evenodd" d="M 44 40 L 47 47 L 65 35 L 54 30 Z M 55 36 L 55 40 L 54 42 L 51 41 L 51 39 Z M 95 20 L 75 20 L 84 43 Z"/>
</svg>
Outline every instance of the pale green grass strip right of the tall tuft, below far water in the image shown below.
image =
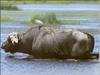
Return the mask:
<svg viewBox="0 0 100 75">
<path fill-rule="evenodd" d="M 59 18 L 97 18 L 100 15 L 99 11 L 77 11 L 77 12 L 58 12 Z"/>
</svg>

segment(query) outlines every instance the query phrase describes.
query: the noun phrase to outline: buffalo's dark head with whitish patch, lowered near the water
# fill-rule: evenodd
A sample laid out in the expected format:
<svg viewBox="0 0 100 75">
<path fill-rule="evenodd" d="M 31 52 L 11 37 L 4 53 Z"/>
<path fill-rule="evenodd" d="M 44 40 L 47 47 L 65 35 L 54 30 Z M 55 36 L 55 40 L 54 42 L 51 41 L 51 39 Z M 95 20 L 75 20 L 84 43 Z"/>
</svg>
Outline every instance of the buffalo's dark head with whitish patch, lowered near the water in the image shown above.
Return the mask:
<svg viewBox="0 0 100 75">
<path fill-rule="evenodd" d="M 7 40 L 3 42 L 1 48 L 5 50 L 5 52 L 14 53 L 17 50 L 17 45 L 19 43 L 19 37 L 17 32 L 12 32 L 9 34 Z"/>
</svg>

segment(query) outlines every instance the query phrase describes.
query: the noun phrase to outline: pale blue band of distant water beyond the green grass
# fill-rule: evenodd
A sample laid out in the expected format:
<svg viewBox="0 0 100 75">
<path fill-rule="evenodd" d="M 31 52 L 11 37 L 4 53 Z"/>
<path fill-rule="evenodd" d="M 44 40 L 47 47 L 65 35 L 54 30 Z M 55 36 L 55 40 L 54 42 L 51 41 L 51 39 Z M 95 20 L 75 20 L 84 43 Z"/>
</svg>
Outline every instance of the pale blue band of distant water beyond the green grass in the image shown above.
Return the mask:
<svg viewBox="0 0 100 75">
<path fill-rule="evenodd" d="M 22 10 L 46 10 L 46 11 L 100 11 L 98 4 L 34 4 L 18 5 Z M 59 8 L 59 9 L 58 9 Z"/>
</svg>

